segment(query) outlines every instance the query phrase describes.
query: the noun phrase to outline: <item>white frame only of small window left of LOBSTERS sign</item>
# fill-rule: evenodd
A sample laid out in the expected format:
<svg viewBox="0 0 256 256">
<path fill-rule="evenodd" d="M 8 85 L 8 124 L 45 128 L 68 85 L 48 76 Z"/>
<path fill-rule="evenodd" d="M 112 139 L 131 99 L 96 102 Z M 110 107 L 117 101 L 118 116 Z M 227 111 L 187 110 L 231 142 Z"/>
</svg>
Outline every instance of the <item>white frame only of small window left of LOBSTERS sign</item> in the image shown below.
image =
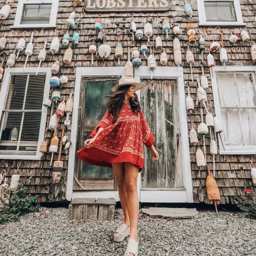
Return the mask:
<svg viewBox="0 0 256 256">
<path fill-rule="evenodd" d="M 47 24 L 21 24 L 24 4 L 42 4 L 51 3 L 50 20 Z M 58 14 L 59 0 L 19 0 L 15 20 L 12 28 L 41 28 L 41 27 L 56 27 L 56 19 Z"/>
</svg>

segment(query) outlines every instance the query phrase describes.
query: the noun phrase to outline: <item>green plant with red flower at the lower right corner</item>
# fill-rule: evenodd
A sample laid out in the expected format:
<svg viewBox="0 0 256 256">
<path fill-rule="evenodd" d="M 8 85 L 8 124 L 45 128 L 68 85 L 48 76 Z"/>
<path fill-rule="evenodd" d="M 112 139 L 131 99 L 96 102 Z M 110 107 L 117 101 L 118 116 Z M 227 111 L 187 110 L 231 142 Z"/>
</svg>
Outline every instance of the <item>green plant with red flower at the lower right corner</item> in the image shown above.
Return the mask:
<svg viewBox="0 0 256 256">
<path fill-rule="evenodd" d="M 256 197 L 253 189 L 244 189 L 245 198 L 235 199 L 237 207 L 246 212 L 251 218 L 256 219 Z"/>
</svg>

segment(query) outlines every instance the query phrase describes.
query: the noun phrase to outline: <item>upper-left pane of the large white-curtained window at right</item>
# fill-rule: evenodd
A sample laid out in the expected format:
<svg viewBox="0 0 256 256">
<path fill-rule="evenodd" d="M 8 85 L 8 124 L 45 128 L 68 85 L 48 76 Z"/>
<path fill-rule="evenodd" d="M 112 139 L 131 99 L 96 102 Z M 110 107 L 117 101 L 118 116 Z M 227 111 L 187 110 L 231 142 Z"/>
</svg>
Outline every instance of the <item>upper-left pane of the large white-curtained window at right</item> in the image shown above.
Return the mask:
<svg viewBox="0 0 256 256">
<path fill-rule="evenodd" d="M 217 73 L 220 107 L 240 107 L 234 73 Z"/>
</svg>

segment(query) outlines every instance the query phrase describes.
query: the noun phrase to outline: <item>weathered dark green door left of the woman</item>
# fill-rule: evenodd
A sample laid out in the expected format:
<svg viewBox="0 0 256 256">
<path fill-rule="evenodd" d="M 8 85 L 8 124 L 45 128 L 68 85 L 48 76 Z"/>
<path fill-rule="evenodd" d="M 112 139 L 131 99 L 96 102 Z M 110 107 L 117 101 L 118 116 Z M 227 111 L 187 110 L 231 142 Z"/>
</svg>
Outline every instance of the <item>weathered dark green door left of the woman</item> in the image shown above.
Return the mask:
<svg viewBox="0 0 256 256">
<path fill-rule="evenodd" d="M 107 98 L 111 94 L 111 87 L 116 85 L 116 77 L 102 77 L 83 79 L 81 82 L 79 119 L 77 134 L 77 150 L 84 147 L 84 141 L 100 122 L 105 111 Z M 75 176 L 85 190 L 116 189 L 113 171 L 111 168 L 90 165 L 77 158 Z M 74 183 L 74 190 L 81 190 Z"/>
</svg>

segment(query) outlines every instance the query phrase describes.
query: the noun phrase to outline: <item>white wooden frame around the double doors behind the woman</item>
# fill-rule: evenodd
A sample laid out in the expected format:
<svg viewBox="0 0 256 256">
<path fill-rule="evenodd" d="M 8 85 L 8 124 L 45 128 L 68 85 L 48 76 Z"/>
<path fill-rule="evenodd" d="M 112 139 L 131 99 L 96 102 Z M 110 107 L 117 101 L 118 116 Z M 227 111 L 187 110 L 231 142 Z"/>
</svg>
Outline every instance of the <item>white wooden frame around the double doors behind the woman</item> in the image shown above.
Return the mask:
<svg viewBox="0 0 256 256">
<path fill-rule="evenodd" d="M 117 190 L 98 190 L 98 191 L 73 191 L 74 180 L 74 163 L 76 154 L 76 139 L 78 126 L 78 113 L 79 113 L 79 100 L 80 100 L 80 87 L 83 77 L 91 77 L 97 74 L 98 76 L 122 76 L 123 67 L 77 67 L 75 73 L 75 87 L 74 87 L 74 106 L 72 113 L 72 128 L 71 128 L 71 141 L 73 146 L 69 151 L 68 173 L 67 173 L 67 187 L 66 199 L 71 201 L 75 197 L 112 197 L 119 201 Z M 140 79 L 149 79 L 151 76 L 147 67 L 143 66 L 134 70 L 134 79 L 140 82 Z M 187 135 L 187 114 L 186 114 L 186 100 L 184 91 L 184 79 L 182 67 L 157 67 L 154 70 L 154 79 L 177 79 L 178 94 L 179 94 L 179 115 L 180 115 L 180 131 L 182 139 L 182 168 L 183 172 L 183 188 L 173 188 L 171 190 L 141 190 L 141 176 L 140 173 L 137 179 L 137 192 L 140 202 L 172 202 L 172 203 L 193 203 L 193 186 L 191 178 L 191 164 L 189 155 L 189 141 Z M 137 91 L 138 98 L 140 99 L 140 91 Z M 146 199 L 145 199 L 146 198 Z M 150 201 L 148 200 L 150 198 Z"/>
</svg>

